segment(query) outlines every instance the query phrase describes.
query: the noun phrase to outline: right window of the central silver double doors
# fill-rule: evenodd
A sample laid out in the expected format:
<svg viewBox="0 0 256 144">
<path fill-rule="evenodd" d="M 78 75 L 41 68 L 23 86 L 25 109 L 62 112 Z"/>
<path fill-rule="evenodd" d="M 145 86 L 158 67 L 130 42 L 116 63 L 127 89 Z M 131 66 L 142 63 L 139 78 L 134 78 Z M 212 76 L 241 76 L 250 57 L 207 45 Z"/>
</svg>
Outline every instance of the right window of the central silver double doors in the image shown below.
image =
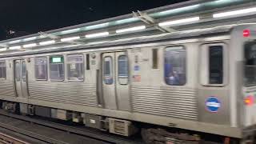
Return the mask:
<svg viewBox="0 0 256 144">
<path fill-rule="evenodd" d="M 128 84 L 128 58 L 126 55 L 118 57 L 118 81 L 121 85 Z"/>
</svg>

